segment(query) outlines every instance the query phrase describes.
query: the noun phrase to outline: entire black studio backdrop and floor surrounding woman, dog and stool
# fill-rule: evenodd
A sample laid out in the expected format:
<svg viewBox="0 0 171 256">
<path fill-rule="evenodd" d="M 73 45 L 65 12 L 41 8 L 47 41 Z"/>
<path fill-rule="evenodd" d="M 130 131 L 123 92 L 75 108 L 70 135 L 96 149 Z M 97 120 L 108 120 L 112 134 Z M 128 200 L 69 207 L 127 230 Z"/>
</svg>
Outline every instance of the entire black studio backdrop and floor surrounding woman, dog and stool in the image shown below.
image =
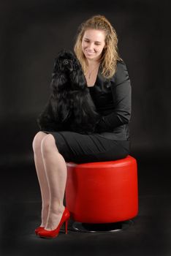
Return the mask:
<svg viewBox="0 0 171 256">
<path fill-rule="evenodd" d="M 131 154 L 139 214 L 117 234 L 39 240 L 40 193 L 32 140 L 50 93 L 54 59 L 77 27 L 105 15 L 132 81 Z M 0 1 L 0 254 L 170 256 L 170 1 Z"/>
</svg>

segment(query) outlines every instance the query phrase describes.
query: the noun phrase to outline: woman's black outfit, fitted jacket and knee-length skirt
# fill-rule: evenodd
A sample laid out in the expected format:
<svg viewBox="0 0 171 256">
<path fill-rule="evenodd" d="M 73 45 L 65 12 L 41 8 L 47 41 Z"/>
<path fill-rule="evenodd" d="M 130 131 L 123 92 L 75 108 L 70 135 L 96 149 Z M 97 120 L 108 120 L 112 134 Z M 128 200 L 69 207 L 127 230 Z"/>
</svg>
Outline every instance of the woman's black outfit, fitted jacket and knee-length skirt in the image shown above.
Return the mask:
<svg viewBox="0 0 171 256">
<path fill-rule="evenodd" d="M 113 78 L 101 75 L 88 87 L 101 115 L 98 133 L 49 132 L 56 140 L 59 153 L 66 162 L 103 162 L 122 159 L 129 154 L 129 119 L 131 116 L 131 84 L 126 65 L 118 61 Z"/>
</svg>

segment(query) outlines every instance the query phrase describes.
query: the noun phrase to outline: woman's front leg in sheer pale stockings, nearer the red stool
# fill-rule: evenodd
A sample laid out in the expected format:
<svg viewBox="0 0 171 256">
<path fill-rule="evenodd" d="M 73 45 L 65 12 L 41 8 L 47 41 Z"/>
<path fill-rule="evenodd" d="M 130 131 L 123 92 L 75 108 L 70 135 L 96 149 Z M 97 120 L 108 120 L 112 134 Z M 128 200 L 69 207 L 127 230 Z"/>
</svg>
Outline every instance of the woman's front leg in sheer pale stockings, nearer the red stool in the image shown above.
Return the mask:
<svg viewBox="0 0 171 256">
<path fill-rule="evenodd" d="M 50 206 L 46 230 L 54 230 L 64 212 L 64 192 L 66 187 L 66 162 L 58 152 L 53 135 L 46 135 L 41 143 L 42 160 L 50 191 Z"/>
</svg>

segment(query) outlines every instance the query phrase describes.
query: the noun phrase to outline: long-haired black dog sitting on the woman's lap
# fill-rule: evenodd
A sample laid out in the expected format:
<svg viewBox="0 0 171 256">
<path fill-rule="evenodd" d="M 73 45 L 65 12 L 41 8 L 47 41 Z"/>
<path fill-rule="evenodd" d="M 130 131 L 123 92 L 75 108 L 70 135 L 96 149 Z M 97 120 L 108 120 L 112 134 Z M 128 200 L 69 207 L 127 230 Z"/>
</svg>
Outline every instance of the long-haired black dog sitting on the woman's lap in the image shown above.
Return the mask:
<svg viewBox="0 0 171 256">
<path fill-rule="evenodd" d="M 92 133 L 99 114 L 89 94 L 83 69 L 75 53 L 61 50 L 55 60 L 52 94 L 38 118 L 41 130 Z"/>
</svg>

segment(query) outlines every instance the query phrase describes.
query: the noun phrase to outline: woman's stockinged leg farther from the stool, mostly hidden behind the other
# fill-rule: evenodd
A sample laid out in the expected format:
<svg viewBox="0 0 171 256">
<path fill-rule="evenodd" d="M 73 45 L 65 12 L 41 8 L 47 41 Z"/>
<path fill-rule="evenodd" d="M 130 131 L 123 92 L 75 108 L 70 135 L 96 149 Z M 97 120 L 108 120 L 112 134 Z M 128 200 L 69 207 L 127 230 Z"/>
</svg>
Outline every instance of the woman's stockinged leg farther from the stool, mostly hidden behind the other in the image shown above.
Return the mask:
<svg viewBox="0 0 171 256">
<path fill-rule="evenodd" d="M 33 150 L 34 150 L 34 162 L 37 170 L 37 178 L 39 181 L 39 187 L 42 196 L 42 223 L 41 227 L 45 227 L 47 222 L 47 214 L 50 203 L 50 193 L 49 187 L 47 183 L 47 176 L 45 173 L 44 163 L 42 161 L 42 152 L 41 152 L 41 144 L 42 140 L 47 136 L 45 132 L 38 132 L 35 135 L 33 140 Z"/>
</svg>

